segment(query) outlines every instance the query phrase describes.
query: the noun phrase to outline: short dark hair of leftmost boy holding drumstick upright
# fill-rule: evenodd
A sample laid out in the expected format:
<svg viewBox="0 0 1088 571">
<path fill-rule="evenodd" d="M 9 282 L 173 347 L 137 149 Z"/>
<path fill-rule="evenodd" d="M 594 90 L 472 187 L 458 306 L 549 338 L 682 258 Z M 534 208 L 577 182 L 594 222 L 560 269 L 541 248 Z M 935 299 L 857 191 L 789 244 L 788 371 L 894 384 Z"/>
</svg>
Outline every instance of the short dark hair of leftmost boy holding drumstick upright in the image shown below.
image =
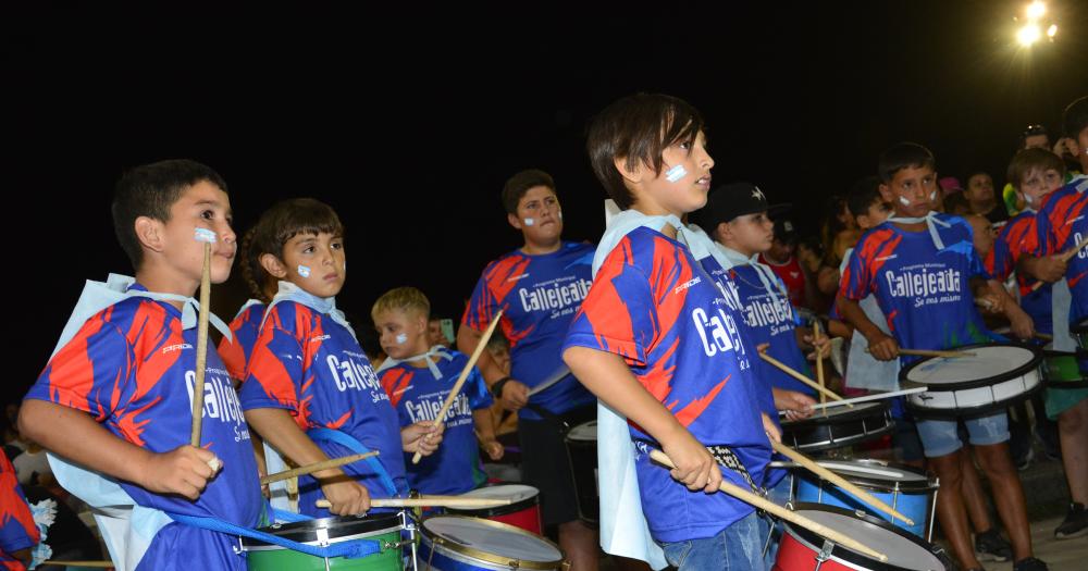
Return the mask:
<svg viewBox="0 0 1088 571">
<path fill-rule="evenodd" d="M 170 221 L 170 208 L 186 188 L 207 181 L 226 193 L 226 183 L 211 167 L 188 159 L 173 159 L 137 166 L 121 176 L 113 189 L 113 232 L 134 270 L 144 263 L 136 237 L 136 219 Z"/>
</svg>

